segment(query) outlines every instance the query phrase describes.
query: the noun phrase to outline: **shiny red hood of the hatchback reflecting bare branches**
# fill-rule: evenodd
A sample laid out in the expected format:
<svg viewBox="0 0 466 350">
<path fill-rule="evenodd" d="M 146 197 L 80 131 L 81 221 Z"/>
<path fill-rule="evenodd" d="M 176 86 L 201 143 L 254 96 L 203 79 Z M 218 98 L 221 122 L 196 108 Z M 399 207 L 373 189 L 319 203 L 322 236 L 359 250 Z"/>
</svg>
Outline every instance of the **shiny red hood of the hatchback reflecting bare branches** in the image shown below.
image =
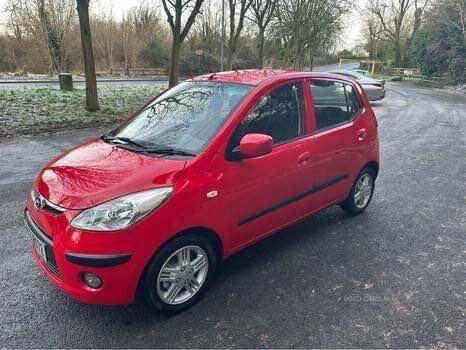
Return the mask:
<svg viewBox="0 0 466 350">
<path fill-rule="evenodd" d="M 35 187 L 56 205 L 86 209 L 125 194 L 173 185 L 185 165 L 185 160 L 151 157 L 98 139 L 49 163 Z"/>
</svg>

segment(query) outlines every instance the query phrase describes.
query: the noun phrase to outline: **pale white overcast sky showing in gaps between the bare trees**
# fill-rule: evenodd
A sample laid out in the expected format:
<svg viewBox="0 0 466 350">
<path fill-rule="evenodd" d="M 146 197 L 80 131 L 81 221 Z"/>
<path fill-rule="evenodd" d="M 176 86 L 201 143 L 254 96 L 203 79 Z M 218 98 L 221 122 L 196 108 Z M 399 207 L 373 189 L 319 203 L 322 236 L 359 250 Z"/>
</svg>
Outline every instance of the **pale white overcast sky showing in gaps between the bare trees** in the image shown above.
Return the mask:
<svg viewBox="0 0 466 350">
<path fill-rule="evenodd" d="M 157 2 L 157 0 L 148 0 Z M 212 0 L 214 3 L 215 0 Z M 220 0 L 218 0 L 220 1 Z M 338 0 L 336 0 L 338 1 Z M 357 6 L 353 10 L 353 13 L 348 13 L 346 17 L 347 21 L 347 29 L 344 31 L 341 40 L 342 48 L 351 48 L 357 41 L 360 39 L 361 36 L 361 15 L 358 13 L 357 7 L 361 8 L 362 5 L 367 0 L 356 0 Z M 7 0 L 0 0 L 0 30 L 4 29 L 4 23 L 6 21 L 6 14 L 4 11 L 5 4 Z M 140 3 L 140 0 L 98 0 L 98 1 L 91 1 L 91 11 L 96 12 L 105 12 L 111 13 L 115 19 L 120 19 L 124 13 L 128 11 L 132 6 L 135 6 Z"/>
</svg>

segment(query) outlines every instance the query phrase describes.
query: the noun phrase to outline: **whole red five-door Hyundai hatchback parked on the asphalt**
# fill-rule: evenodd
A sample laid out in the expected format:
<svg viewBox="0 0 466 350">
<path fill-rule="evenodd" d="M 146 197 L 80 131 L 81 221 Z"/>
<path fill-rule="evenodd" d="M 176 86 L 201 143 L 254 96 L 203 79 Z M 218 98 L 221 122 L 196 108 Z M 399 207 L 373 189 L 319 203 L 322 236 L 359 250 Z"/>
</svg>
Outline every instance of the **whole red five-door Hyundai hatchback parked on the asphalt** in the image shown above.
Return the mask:
<svg viewBox="0 0 466 350">
<path fill-rule="evenodd" d="M 328 206 L 368 206 L 377 121 L 360 85 L 271 70 L 183 82 L 54 159 L 25 221 L 46 276 L 85 303 L 196 302 L 222 260 Z"/>
</svg>

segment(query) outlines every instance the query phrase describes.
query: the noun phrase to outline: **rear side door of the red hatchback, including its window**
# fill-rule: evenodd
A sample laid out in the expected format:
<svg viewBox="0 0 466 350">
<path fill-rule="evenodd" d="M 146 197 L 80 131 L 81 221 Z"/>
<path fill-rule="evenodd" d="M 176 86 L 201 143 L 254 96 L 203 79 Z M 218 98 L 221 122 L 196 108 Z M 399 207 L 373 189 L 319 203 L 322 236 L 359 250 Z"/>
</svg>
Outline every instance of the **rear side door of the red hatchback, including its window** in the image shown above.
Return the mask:
<svg viewBox="0 0 466 350">
<path fill-rule="evenodd" d="M 343 200 L 362 167 L 365 110 L 349 82 L 311 79 L 308 84 L 313 110 L 308 147 L 319 190 L 313 206 L 320 208 Z"/>
</svg>

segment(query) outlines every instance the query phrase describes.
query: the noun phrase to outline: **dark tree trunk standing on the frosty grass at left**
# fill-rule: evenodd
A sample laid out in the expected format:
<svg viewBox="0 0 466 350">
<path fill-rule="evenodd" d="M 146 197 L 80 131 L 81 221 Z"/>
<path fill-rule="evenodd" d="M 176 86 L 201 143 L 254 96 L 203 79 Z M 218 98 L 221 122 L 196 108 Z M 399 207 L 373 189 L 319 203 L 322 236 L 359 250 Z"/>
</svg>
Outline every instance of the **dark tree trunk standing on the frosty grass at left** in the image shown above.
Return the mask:
<svg viewBox="0 0 466 350">
<path fill-rule="evenodd" d="M 99 109 L 99 99 L 97 97 L 94 51 L 89 23 L 89 0 L 77 0 L 76 9 L 79 16 L 84 74 L 86 76 L 86 108 L 89 111 L 96 111 Z"/>
</svg>

